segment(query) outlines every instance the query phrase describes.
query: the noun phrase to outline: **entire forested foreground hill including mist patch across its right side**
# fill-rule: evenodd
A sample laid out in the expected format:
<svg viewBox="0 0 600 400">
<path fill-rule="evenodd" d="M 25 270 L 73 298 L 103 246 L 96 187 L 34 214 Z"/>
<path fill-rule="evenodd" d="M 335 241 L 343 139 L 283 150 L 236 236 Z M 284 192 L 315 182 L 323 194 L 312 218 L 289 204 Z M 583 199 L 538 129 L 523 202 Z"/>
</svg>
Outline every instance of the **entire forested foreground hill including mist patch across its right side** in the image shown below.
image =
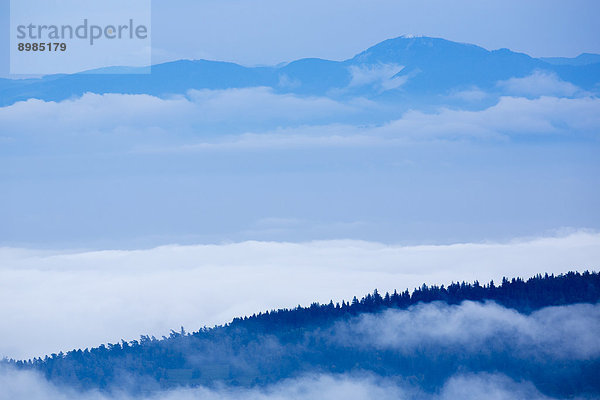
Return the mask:
<svg viewBox="0 0 600 400">
<path fill-rule="evenodd" d="M 372 373 L 435 391 L 459 371 L 526 379 L 548 395 L 600 394 L 600 357 L 577 343 L 597 334 L 590 330 L 600 322 L 599 299 L 596 272 L 375 290 L 341 304 L 6 363 L 60 385 L 133 393 L 260 386 L 309 373 Z"/>
</svg>

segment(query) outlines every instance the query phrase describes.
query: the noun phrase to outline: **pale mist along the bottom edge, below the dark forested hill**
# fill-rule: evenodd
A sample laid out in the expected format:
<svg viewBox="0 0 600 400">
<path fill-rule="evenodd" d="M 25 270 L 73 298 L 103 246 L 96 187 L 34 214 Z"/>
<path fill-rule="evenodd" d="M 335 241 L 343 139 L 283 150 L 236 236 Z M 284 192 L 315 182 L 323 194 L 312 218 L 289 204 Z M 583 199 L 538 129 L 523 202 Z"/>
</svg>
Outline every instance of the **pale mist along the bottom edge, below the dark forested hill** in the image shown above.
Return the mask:
<svg viewBox="0 0 600 400">
<path fill-rule="evenodd" d="M 0 400 L 551 400 L 529 382 L 502 375 L 456 375 L 439 393 L 424 393 L 410 384 L 398 384 L 373 376 L 316 375 L 284 381 L 263 389 L 194 388 L 158 392 L 150 396 L 80 393 L 58 388 L 29 372 L 0 371 Z"/>
</svg>

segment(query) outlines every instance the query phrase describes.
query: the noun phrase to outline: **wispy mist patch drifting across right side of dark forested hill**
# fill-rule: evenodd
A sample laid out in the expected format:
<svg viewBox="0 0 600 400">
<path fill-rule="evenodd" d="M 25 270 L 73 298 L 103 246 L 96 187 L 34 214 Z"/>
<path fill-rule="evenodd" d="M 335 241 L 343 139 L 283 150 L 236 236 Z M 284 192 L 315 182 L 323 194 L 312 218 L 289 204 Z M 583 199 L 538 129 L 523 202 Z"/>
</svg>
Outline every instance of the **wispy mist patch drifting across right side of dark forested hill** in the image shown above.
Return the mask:
<svg viewBox="0 0 600 400">
<path fill-rule="evenodd" d="M 364 314 L 333 330 L 336 342 L 392 350 L 403 356 L 429 352 L 457 357 L 497 355 L 529 363 L 600 357 L 600 305 L 548 307 L 530 315 L 489 302 L 450 306 L 420 304 L 407 311 Z M 532 361 L 536 360 L 536 361 Z"/>
</svg>

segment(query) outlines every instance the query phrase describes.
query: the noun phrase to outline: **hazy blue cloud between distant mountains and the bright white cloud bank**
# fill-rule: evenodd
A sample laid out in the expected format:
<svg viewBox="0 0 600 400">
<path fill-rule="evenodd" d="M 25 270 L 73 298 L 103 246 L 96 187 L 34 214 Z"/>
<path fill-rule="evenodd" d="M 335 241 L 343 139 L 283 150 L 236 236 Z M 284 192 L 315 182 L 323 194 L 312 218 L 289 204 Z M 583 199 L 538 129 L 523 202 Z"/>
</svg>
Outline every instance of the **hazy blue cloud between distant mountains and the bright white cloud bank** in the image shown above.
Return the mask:
<svg viewBox="0 0 600 400">
<path fill-rule="evenodd" d="M 400 68 L 357 70 L 355 84 Z M 466 108 L 268 88 L 16 103 L 0 108 L 0 243 L 448 243 L 599 228 L 600 100 L 461 96 L 482 95 Z M 304 223 L 258 226 L 268 218 Z"/>
</svg>

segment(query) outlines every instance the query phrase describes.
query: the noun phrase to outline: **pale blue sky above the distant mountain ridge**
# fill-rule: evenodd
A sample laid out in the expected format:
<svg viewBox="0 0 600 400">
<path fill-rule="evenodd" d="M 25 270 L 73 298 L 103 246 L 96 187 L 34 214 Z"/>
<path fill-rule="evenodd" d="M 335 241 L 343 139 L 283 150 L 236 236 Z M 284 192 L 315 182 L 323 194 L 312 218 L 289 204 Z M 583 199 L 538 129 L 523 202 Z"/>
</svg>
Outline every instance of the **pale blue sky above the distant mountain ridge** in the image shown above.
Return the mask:
<svg viewBox="0 0 600 400">
<path fill-rule="evenodd" d="M 9 2 L 0 0 L 5 38 Z M 600 53 L 600 3 L 595 0 L 154 0 L 152 14 L 154 63 L 344 59 L 403 34 L 506 47 L 537 57 Z M 0 43 L 0 75 L 8 71 L 7 42 Z"/>
</svg>

